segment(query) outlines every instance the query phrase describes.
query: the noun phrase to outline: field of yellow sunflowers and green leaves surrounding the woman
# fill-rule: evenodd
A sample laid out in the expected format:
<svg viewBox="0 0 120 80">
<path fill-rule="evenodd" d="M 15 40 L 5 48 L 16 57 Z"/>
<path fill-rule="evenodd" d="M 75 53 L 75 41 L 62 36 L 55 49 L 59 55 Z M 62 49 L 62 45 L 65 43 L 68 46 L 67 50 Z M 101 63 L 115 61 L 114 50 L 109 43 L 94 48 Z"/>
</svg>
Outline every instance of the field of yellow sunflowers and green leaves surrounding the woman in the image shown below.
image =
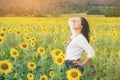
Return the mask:
<svg viewBox="0 0 120 80">
<path fill-rule="evenodd" d="M 69 18 L 1 17 L 0 80 L 120 80 L 120 18 L 86 17 L 96 54 L 83 74 L 65 68 Z"/>
</svg>

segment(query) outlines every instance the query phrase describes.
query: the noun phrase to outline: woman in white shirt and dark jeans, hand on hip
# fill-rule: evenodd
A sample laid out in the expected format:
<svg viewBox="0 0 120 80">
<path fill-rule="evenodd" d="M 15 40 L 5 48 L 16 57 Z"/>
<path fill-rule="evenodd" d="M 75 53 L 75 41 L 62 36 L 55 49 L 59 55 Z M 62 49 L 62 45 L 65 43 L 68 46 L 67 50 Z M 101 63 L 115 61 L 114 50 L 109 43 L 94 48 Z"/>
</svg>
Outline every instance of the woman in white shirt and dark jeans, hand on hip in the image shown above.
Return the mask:
<svg viewBox="0 0 120 80">
<path fill-rule="evenodd" d="M 89 63 L 95 52 L 89 44 L 89 24 L 83 17 L 74 17 L 69 19 L 69 26 L 72 32 L 70 40 L 66 43 L 66 59 L 67 69 L 76 67 L 84 72 L 84 66 Z M 83 52 L 87 53 L 86 59 L 82 62 L 80 57 Z"/>
</svg>

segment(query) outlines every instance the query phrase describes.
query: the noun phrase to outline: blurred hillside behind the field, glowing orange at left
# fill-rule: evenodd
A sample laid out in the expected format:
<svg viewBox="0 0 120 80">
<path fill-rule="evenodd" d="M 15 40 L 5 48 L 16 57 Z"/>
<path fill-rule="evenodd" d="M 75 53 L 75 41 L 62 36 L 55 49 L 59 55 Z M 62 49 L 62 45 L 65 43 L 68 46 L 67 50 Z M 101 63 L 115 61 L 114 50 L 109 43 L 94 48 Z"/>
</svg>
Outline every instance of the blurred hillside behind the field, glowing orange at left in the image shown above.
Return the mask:
<svg viewBox="0 0 120 80">
<path fill-rule="evenodd" d="M 49 17 L 70 13 L 120 16 L 119 0 L 0 0 L 0 16 Z"/>
</svg>

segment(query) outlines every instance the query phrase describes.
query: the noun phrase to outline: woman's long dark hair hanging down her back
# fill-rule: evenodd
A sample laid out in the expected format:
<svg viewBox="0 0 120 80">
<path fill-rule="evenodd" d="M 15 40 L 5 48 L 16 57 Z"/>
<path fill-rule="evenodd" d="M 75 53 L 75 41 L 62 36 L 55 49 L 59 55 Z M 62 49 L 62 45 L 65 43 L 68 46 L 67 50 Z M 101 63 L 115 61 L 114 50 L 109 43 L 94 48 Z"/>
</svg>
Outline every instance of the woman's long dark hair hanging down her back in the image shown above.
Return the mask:
<svg viewBox="0 0 120 80">
<path fill-rule="evenodd" d="M 81 25 L 83 26 L 81 33 L 85 36 L 85 38 L 89 42 L 90 41 L 89 40 L 90 29 L 89 29 L 88 21 L 83 17 L 80 17 L 80 18 L 81 18 Z"/>
</svg>

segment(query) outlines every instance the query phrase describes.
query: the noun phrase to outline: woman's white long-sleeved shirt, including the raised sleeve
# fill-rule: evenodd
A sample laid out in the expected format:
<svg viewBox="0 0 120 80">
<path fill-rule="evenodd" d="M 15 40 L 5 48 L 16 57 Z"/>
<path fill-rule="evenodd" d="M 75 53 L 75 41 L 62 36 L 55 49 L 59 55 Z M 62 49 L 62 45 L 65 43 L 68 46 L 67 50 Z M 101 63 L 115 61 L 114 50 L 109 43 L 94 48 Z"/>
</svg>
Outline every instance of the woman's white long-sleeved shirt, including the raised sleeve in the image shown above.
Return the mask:
<svg viewBox="0 0 120 80">
<path fill-rule="evenodd" d="M 66 47 L 65 60 L 79 59 L 82 56 L 84 51 L 87 53 L 87 57 L 93 58 L 93 56 L 95 55 L 95 52 L 92 46 L 88 43 L 87 39 L 84 37 L 83 34 L 79 34 L 76 37 L 74 37 L 75 30 L 73 29 L 73 22 L 69 21 L 69 26 L 72 31 L 72 36 L 70 37 L 72 38 L 72 41 Z"/>
</svg>

